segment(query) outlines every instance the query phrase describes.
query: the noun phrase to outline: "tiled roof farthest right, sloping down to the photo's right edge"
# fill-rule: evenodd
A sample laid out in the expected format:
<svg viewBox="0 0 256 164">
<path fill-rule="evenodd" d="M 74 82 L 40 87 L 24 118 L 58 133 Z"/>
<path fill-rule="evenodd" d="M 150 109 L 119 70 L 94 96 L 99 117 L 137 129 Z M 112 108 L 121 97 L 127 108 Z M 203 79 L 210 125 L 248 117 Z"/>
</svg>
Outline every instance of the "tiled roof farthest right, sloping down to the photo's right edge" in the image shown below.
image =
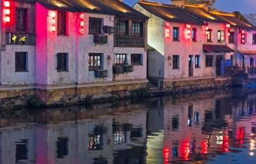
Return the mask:
<svg viewBox="0 0 256 164">
<path fill-rule="evenodd" d="M 251 29 L 256 30 L 256 26 L 251 24 L 250 22 L 243 21 L 239 18 L 236 18 L 235 16 L 226 16 L 226 15 L 218 15 L 220 18 L 229 21 L 230 27 L 236 27 L 241 29 Z"/>
</svg>

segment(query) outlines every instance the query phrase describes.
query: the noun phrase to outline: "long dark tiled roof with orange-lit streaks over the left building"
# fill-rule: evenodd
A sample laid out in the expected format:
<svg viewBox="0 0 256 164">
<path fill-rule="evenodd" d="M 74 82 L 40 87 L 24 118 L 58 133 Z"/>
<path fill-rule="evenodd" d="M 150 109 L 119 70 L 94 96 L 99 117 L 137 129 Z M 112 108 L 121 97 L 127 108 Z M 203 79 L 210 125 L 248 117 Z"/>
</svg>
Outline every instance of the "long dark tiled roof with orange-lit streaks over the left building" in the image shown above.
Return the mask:
<svg viewBox="0 0 256 164">
<path fill-rule="evenodd" d="M 118 0 L 35 0 L 50 10 L 148 18 Z"/>
</svg>

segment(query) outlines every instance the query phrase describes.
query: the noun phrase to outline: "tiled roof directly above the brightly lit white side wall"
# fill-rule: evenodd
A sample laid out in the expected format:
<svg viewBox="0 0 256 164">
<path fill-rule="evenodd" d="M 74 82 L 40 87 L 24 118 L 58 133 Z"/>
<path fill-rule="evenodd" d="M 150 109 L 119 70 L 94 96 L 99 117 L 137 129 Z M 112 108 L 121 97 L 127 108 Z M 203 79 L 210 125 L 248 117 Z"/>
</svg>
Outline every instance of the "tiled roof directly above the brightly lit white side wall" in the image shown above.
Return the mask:
<svg viewBox="0 0 256 164">
<path fill-rule="evenodd" d="M 138 2 L 138 4 L 143 7 L 143 9 L 154 14 L 155 16 L 158 16 L 159 18 L 164 19 L 165 21 L 204 25 L 204 22 L 193 18 L 192 16 L 185 13 L 182 9 L 174 5 L 161 6 L 143 4 L 140 2 Z"/>
</svg>

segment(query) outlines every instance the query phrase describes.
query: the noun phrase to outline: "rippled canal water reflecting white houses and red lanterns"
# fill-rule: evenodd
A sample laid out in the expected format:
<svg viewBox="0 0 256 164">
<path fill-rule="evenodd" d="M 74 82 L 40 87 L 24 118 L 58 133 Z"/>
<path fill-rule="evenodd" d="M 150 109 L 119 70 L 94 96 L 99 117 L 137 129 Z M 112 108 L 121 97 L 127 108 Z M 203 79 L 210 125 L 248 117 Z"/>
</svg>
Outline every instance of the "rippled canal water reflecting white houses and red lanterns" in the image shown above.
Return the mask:
<svg viewBox="0 0 256 164">
<path fill-rule="evenodd" d="M 0 163 L 255 163 L 256 89 L 2 111 Z"/>
</svg>

